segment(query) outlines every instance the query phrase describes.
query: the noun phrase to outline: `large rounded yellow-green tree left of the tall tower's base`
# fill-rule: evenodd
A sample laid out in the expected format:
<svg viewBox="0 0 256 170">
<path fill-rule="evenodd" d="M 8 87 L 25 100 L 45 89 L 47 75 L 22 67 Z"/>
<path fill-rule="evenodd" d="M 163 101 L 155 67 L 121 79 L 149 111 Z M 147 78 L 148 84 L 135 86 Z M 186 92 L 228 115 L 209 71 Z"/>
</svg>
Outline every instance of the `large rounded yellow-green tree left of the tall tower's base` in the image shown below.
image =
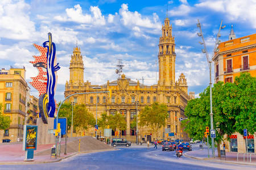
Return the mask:
<svg viewBox="0 0 256 170">
<path fill-rule="evenodd" d="M 168 118 L 167 106 L 165 104 L 154 103 L 150 107 L 146 106 L 139 114 L 139 125 L 150 128 L 158 136 L 158 130 L 166 125 Z"/>
</svg>

